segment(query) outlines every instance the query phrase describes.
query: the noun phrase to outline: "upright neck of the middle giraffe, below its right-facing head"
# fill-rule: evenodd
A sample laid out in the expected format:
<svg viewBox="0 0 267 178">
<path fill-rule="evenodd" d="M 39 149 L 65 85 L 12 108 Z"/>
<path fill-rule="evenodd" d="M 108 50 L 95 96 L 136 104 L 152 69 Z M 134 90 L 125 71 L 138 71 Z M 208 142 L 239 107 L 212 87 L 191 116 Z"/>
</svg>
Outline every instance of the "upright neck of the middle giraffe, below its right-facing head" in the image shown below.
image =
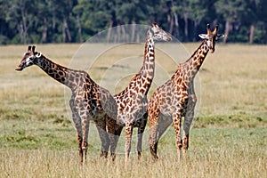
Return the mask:
<svg viewBox="0 0 267 178">
<path fill-rule="evenodd" d="M 143 58 L 144 60 L 142 63 L 142 69 L 140 70 L 139 73 L 142 76 L 153 79 L 154 68 L 155 68 L 155 44 L 150 29 L 148 30 L 146 37 L 146 44 L 145 44 Z"/>
</svg>

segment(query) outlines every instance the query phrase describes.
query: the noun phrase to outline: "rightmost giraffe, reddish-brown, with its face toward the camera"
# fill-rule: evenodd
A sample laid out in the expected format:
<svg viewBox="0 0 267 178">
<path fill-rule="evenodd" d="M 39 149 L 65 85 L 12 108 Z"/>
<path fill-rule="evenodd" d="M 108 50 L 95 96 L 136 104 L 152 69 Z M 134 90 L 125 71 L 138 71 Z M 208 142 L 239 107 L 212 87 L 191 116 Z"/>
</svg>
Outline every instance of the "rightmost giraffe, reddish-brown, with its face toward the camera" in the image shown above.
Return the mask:
<svg viewBox="0 0 267 178">
<path fill-rule="evenodd" d="M 207 34 L 200 34 L 202 44 L 191 55 L 190 59 L 179 64 L 173 77 L 152 94 L 148 106 L 150 123 L 150 152 L 152 158 L 157 159 L 158 141 L 166 128 L 174 123 L 176 136 L 176 149 L 178 160 L 181 161 L 181 150 L 186 155 L 189 148 L 190 125 L 194 117 L 194 109 L 197 97 L 194 92 L 194 77 L 197 75 L 206 54 L 214 53 L 218 26 L 211 31 L 210 25 L 206 25 Z M 181 136 L 181 123 L 183 121 L 183 139 Z"/>
</svg>

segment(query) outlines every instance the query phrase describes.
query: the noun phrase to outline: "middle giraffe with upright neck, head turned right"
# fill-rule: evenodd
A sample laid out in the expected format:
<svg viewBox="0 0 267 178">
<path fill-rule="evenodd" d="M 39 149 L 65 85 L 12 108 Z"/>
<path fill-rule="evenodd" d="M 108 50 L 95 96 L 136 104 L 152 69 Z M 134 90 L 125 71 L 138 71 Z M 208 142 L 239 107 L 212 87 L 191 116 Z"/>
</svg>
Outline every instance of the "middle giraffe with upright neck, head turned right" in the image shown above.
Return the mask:
<svg viewBox="0 0 267 178">
<path fill-rule="evenodd" d="M 157 23 L 152 23 L 152 27 L 149 28 L 146 36 L 142 69 L 131 79 L 125 90 L 114 96 L 117 101 L 117 120 L 107 120 L 107 130 L 110 135 L 110 152 L 113 159 L 115 158 L 118 137 L 125 126 L 125 163 L 129 158 L 134 127 L 138 127 L 137 150 L 138 158 L 141 157 L 142 133 L 147 123 L 147 93 L 154 77 L 154 40 L 170 41 L 172 37 L 159 28 Z"/>
</svg>

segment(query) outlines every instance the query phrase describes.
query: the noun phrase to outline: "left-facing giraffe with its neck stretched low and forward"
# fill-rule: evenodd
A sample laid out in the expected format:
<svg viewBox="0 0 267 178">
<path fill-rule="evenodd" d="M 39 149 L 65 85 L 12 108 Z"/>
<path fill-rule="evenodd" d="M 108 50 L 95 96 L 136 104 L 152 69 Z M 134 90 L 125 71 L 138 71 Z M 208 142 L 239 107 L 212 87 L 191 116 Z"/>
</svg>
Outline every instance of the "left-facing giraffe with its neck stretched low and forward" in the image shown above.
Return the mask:
<svg viewBox="0 0 267 178">
<path fill-rule="evenodd" d="M 117 104 L 108 90 L 97 85 L 83 70 L 68 69 L 47 59 L 35 51 L 36 46 L 28 46 L 16 70 L 21 71 L 36 65 L 71 90 L 69 106 L 77 129 L 80 162 L 85 162 L 88 148 L 89 120 L 93 119 L 101 137 L 101 156 L 106 157 L 109 150 L 109 136 L 106 133 L 106 117 L 116 119 Z"/>
</svg>

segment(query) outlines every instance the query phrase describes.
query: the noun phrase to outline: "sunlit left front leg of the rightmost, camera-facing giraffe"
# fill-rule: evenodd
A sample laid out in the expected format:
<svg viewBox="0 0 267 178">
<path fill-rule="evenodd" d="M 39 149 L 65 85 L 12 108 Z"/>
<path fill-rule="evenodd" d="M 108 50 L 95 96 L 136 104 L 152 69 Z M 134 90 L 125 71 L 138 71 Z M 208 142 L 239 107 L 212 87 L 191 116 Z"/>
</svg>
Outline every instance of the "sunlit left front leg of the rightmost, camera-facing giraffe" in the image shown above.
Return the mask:
<svg viewBox="0 0 267 178">
<path fill-rule="evenodd" d="M 176 136 L 176 150 L 178 153 L 178 161 L 181 162 L 181 150 L 182 150 L 182 137 L 181 137 L 181 112 L 177 112 L 173 114 L 174 120 L 174 131 Z"/>
</svg>

